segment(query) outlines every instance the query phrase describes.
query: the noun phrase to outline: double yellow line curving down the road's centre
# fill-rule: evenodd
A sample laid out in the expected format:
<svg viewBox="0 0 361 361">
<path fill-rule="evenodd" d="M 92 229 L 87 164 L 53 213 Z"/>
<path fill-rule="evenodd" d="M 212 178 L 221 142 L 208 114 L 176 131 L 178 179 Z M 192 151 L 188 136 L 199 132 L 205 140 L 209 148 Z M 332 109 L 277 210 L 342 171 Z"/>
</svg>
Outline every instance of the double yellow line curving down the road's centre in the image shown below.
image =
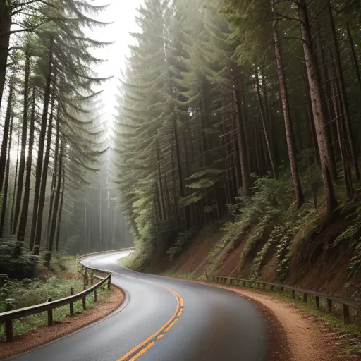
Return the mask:
<svg viewBox="0 0 361 361">
<path fill-rule="evenodd" d="M 153 283 L 153 282 L 149 282 Z M 184 302 L 181 295 L 176 293 L 176 291 L 172 290 L 171 288 L 168 288 L 166 286 L 161 286 L 158 283 L 154 283 L 154 285 L 165 288 L 166 290 L 169 290 L 169 292 L 173 293 L 173 295 L 176 296 L 177 300 L 177 306 L 176 311 L 172 314 L 172 316 L 168 319 L 168 321 L 161 326 L 161 328 L 154 332 L 152 336 L 149 336 L 145 341 L 142 341 L 139 343 L 139 345 L 136 345 L 135 348 L 132 348 L 132 350 L 128 351 L 126 355 L 121 357 L 118 361 L 134 361 L 137 360 L 141 355 L 147 352 L 149 348 L 152 348 L 154 343 L 161 340 L 161 338 L 164 337 L 164 335 L 178 322 L 179 317 L 181 317 L 183 310 L 184 310 Z"/>
</svg>

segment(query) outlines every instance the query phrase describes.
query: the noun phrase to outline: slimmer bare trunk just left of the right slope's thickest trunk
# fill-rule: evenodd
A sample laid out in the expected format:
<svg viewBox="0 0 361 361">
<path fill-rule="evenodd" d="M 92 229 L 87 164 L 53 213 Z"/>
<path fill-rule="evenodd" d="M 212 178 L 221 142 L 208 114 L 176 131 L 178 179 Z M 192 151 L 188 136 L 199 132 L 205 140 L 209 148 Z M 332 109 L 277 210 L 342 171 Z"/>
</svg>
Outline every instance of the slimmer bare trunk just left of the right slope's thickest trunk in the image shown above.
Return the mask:
<svg viewBox="0 0 361 361">
<path fill-rule="evenodd" d="M 290 121 L 290 104 L 288 102 L 288 93 L 286 85 L 286 76 L 283 67 L 281 46 L 279 44 L 279 34 L 277 22 L 274 22 L 274 51 L 276 54 L 277 74 L 279 76 L 279 93 L 282 102 L 283 120 L 285 122 L 286 141 L 288 149 L 288 159 L 290 159 L 290 173 L 292 176 L 293 187 L 295 188 L 296 208 L 300 208 L 304 202 L 301 188 L 300 176 L 298 174 L 297 159 L 295 157 L 295 143 L 292 136 L 292 123 Z"/>
</svg>

